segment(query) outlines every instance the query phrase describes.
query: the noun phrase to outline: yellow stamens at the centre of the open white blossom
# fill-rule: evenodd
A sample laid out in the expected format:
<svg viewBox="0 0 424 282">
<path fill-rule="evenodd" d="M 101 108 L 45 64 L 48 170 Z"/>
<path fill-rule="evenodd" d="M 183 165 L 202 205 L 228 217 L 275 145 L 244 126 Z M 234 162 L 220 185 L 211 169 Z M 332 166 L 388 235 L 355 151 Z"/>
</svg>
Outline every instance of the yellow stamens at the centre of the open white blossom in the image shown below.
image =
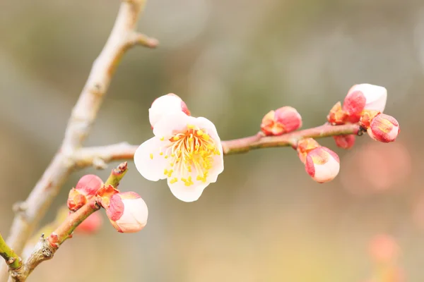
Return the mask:
<svg viewBox="0 0 424 282">
<path fill-rule="evenodd" d="M 178 171 L 182 176 L 179 179 L 172 178 L 170 183 L 181 180 L 186 186 L 193 185 L 193 174 L 196 176 L 196 180 L 205 183 L 208 171 L 213 166 L 213 156 L 220 154 L 215 140 L 208 135 L 206 130 L 201 130 L 194 125 L 187 125 L 187 131 L 172 136 L 170 142 L 165 150 L 165 159 L 170 157 L 171 169 L 165 169 L 164 174 L 170 178 L 172 173 Z"/>
</svg>

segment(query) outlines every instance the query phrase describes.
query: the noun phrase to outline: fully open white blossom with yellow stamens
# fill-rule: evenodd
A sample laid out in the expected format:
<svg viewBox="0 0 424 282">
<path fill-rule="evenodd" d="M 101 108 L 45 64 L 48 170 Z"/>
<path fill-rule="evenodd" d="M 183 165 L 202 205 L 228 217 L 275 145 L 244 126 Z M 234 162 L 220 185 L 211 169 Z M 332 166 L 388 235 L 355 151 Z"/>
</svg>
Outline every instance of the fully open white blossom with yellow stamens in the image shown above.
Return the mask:
<svg viewBox="0 0 424 282">
<path fill-rule="evenodd" d="M 198 200 L 224 169 L 215 125 L 177 111 L 155 123 L 153 133 L 155 137 L 143 142 L 134 154 L 137 170 L 148 180 L 167 178 L 179 200 Z"/>
</svg>

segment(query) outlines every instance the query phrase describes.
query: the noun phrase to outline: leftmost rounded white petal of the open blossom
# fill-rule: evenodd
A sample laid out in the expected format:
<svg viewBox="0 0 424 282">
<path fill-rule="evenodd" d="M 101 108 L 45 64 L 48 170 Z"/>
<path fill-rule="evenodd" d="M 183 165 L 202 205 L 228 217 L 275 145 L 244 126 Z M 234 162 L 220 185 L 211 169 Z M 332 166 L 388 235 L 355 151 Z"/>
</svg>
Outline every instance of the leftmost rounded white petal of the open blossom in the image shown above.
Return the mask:
<svg viewBox="0 0 424 282">
<path fill-rule="evenodd" d="M 163 170 L 169 165 L 169 161 L 165 159 L 164 154 L 160 155 L 160 152 L 162 152 L 161 148 L 168 144 L 170 144 L 169 140 L 152 137 L 136 149 L 134 163 L 141 176 L 151 181 L 166 178 Z"/>
</svg>

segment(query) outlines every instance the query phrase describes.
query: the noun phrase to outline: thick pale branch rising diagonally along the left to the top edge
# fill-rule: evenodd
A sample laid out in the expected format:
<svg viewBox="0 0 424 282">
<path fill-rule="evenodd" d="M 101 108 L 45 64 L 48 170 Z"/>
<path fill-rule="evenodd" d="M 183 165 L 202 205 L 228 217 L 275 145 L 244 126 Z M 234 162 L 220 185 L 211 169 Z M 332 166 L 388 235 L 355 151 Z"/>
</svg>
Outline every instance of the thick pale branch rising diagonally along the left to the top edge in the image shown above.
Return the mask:
<svg viewBox="0 0 424 282">
<path fill-rule="evenodd" d="M 112 75 L 126 49 L 135 44 L 149 47 L 157 44 L 154 39 L 141 37 L 135 33 L 139 13 L 144 5 L 145 0 L 122 1 L 110 37 L 93 63 L 86 85 L 73 108 L 61 148 L 27 200 L 17 206 L 17 214 L 7 240 L 8 245 L 17 253 L 22 252 L 25 242 L 45 215 L 61 185 L 73 169 L 77 168 L 73 154 L 81 147 L 90 132 Z M 6 280 L 6 267 L 0 269 L 0 281 L 4 280 Z"/>
</svg>

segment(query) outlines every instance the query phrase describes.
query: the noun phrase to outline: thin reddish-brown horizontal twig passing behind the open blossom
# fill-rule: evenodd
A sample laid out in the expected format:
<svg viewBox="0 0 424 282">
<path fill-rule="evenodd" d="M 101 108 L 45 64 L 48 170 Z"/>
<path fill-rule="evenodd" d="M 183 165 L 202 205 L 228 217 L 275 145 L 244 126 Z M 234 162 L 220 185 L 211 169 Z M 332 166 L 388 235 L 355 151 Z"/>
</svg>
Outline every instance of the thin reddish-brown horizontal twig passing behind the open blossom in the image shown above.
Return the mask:
<svg viewBox="0 0 424 282">
<path fill-rule="evenodd" d="M 222 141 L 223 152 L 228 154 L 241 154 L 249 152 L 251 149 L 271 148 L 271 147 L 296 147 L 298 140 L 306 137 L 323 138 L 334 135 L 358 134 L 359 125 L 321 125 L 316 128 L 298 130 L 280 136 L 266 137 L 262 133 L 257 133 L 249 137 L 235 140 Z M 126 142 L 115 145 L 85 147 L 76 152 L 75 159 L 78 166 L 105 165 L 110 161 L 132 159 L 134 152 L 139 145 L 129 145 Z"/>
</svg>

